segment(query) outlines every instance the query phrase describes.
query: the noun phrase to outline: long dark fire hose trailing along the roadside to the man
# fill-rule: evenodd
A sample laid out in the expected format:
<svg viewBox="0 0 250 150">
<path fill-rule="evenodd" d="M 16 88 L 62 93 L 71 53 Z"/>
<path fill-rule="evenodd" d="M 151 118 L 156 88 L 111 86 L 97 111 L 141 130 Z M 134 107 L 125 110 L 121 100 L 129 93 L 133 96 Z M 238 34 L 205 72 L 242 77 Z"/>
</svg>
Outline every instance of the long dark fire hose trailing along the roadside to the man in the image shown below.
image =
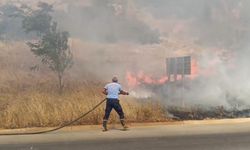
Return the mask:
<svg viewBox="0 0 250 150">
<path fill-rule="evenodd" d="M 87 111 L 86 113 L 82 114 L 81 116 L 79 116 L 78 118 L 76 118 L 75 120 L 65 123 L 59 127 L 56 127 L 54 129 L 49 129 L 49 130 L 44 130 L 44 131 L 38 131 L 38 132 L 25 132 L 25 133 L 0 133 L 0 136 L 5 136 L 5 135 L 34 135 L 34 134 L 43 134 L 43 133 L 49 133 L 49 132 L 53 132 L 53 131 L 57 131 L 60 130 L 64 127 L 70 126 L 73 123 L 79 121 L 80 119 L 84 118 L 85 116 L 87 116 L 89 113 L 91 113 L 92 111 L 94 111 L 96 108 L 98 108 L 102 103 L 104 103 L 106 101 L 106 99 L 102 100 L 101 102 L 99 102 L 97 105 L 95 105 L 92 109 L 90 109 L 89 111 Z"/>
</svg>

